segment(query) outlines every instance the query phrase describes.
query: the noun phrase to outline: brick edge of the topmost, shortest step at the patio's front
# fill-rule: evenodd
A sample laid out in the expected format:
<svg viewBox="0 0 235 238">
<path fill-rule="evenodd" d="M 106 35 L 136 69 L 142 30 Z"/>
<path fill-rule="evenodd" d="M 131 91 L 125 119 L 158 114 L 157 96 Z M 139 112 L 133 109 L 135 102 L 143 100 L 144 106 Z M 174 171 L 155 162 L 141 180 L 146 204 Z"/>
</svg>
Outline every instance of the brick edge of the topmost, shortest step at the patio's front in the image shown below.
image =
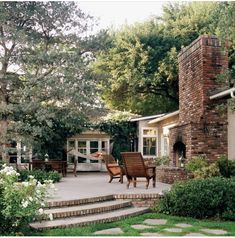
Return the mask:
<svg viewBox="0 0 235 238">
<path fill-rule="evenodd" d="M 49 201 L 48 207 L 68 207 L 68 206 L 76 206 L 76 205 L 84 205 L 90 203 L 104 202 L 114 200 L 113 195 L 105 195 L 99 197 L 91 197 L 91 198 L 82 198 L 82 199 L 73 199 L 66 201 Z"/>
</svg>

